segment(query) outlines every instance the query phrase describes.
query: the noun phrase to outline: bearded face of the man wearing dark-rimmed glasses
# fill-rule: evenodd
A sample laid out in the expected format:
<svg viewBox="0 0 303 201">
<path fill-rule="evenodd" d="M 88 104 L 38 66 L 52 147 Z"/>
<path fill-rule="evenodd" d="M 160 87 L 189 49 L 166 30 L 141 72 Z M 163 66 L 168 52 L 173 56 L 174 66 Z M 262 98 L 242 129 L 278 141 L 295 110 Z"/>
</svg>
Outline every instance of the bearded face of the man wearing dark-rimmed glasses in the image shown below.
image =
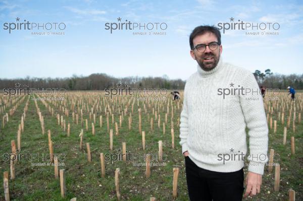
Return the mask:
<svg viewBox="0 0 303 201">
<path fill-rule="evenodd" d="M 197 44 L 208 45 L 211 42 L 218 42 L 218 39 L 215 34 L 207 32 L 203 35 L 194 37 L 192 42 L 195 47 Z M 195 59 L 200 67 L 205 71 L 210 71 L 217 66 L 221 53 L 222 45 L 215 50 L 211 50 L 209 46 L 206 46 L 204 52 L 198 52 L 196 49 L 190 50 L 191 57 Z"/>
</svg>

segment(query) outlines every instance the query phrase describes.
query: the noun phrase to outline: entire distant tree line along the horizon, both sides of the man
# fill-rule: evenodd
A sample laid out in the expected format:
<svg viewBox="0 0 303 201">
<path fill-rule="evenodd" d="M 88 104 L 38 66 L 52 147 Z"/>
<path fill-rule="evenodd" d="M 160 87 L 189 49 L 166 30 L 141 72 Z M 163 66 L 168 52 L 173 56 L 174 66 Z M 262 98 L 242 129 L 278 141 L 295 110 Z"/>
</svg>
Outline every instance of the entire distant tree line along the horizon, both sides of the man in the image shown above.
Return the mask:
<svg viewBox="0 0 303 201">
<path fill-rule="evenodd" d="M 274 74 L 270 69 L 264 73 L 256 70 L 253 73 L 259 86 L 266 88 L 287 89 L 288 86 L 294 89 L 303 89 L 303 74 L 301 75 L 280 75 Z M 91 74 L 89 76 L 73 75 L 69 78 L 20 78 L 20 79 L 0 79 L 0 89 L 16 88 L 20 83 L 20 88 L 24 85 L 29 88 L 64 88 L 66 90 L 104 90 L 106 88 L 117 88 L 121 83 L 121 88 L 125 85 L 131 88 L 158 88 L 168 90 L 183 90 L 185 81 L 181 79 L 169 79 L 167 75 L 162 77 L 125 77 L 115 78 L 107 74 Z M 128 87 L 127 87 L 128 88 Z"/>
</svg>

